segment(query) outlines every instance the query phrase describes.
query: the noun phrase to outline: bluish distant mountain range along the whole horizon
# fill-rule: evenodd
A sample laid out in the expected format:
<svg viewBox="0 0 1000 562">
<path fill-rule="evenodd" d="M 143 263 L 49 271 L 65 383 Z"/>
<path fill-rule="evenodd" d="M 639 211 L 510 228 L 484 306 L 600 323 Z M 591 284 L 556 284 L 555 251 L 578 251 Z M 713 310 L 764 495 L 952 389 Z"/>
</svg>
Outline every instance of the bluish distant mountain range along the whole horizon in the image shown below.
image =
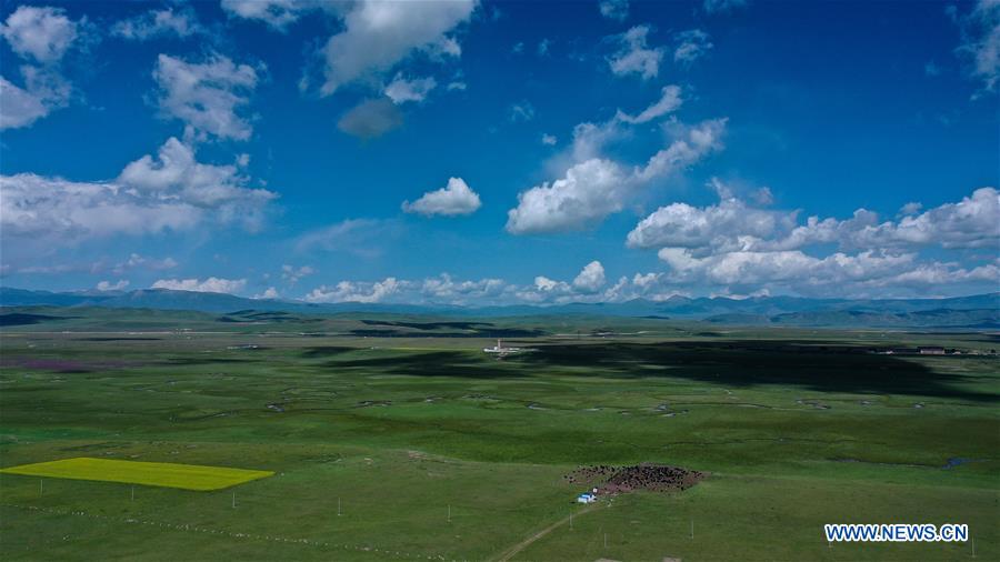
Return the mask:
<svg viewBox="0 0 1000 562">
<path fill-rule="evenodd" d="M 112 292 L 50 292 L 0 288 L 0 307 L 103 307 L 232 312 L 286 311 L 311 314 L 381 312 L 464 317 L 587 314 L 703 320 L 719 324 L 799 327 L 970 328 L 1000 329 L 1000 292 L 951 299 L 806 299 L 756 297 L 727 299 L 672 297 L 618 303 L 570 303 L 548 307 L 461 308 L 448 305 L 342 302 L 316 304 L 232 294 L 140 289 Z"/>
</svg>

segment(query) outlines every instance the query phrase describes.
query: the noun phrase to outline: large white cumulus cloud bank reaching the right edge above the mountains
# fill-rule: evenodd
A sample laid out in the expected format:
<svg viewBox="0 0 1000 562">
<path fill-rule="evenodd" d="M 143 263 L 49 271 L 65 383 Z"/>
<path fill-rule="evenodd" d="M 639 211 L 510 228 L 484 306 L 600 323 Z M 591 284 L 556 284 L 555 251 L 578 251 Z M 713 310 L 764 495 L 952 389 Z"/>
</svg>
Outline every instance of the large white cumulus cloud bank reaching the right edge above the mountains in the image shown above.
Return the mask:
<svg viewBox="0 0 1000 562">
<path fill-rule="evenodd" d="M 710 288 L 721 294 L 858 295 L 1000 282 L 1000 262 L 982 263 L 973 252 L 992 249 L 996 255 L 1000 250 L 1000 193 L 993 188 L 922 213 L 921 205 L 909 203 L 896 221 L 880 221 L 877 213 L 859 209 L 844 220 L 809 217 L 800 222 L 797 210 L 757 208 L 719 180 L 711 184 L 718 203 L 661 207 L 629 233 L 629 247 L 659 249 L 670 268 L 656 277 L 657 284 Z M 842 251 L 830 253 L 830 245 Z M 933 247 L 971 253 L 956 254 L 964 255 L 964 262 L 936 261 L 936 253 L 921 259 L 922 249 Z"/>
</svg>

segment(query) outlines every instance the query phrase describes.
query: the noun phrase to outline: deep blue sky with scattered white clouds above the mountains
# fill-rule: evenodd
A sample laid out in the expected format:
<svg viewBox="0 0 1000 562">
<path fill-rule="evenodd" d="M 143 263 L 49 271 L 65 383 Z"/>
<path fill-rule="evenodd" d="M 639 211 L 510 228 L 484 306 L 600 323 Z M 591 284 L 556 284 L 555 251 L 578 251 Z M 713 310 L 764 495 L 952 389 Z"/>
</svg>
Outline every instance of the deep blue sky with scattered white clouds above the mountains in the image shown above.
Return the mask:
<svg viewBox="0 0 1000 562">
<path fill-rule="evenodd" d="M 1000 2 L 2 2 L 0 273 L 316 302 L 1000 282 Z"/>
</svg>

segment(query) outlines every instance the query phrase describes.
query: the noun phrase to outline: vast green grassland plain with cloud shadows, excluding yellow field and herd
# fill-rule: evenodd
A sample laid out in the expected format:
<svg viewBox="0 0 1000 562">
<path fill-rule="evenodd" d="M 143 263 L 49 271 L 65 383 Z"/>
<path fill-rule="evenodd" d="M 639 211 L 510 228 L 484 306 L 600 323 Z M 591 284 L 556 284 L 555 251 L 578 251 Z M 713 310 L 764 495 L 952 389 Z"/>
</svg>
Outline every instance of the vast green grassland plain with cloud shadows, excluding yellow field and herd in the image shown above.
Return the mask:
<svg viewBox="0 0 1000 562">
<path fill-rule="evenodd" d="M 4 560 L 972 555 L 971 543 L 829 545 L 834 522 L 968 523 L 977 559 L 1000 559 L 1000 361 L 871 353 L 989 350 L 994 334 L 18 313 L 49 318 L 0 333 L 0 468 L 87 456 L 274 475 L 132 496 L 0 473 Z M 487 357 L 498 337 L 534 351 Z M 582 490 L 563 474 L 638 462 L 709 476 L 572 503 Z"/>
</svg>

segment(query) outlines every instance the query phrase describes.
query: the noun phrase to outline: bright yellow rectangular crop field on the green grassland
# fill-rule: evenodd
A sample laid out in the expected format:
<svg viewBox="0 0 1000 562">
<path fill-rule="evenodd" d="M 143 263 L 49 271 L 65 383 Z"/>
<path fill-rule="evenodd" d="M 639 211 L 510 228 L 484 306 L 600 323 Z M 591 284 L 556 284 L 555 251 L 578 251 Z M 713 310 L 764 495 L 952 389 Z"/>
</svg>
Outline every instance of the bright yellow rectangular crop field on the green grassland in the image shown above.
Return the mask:
<svg viewBox="0 0 1000 562">
<path fill-rule="evenodd" d="M 201 466 L 169 462 L 117 461 L 111 459 L 90 459 L 87 456 L 22 464 L 20 466 L 0 469 L 0 472 L 27 476 L 98 480 L 102 482 L 122 482 L 126 484 L 181 488 L 198 491 L 221 490 L 274 474 L 263 470 Z"/>
</svg>

